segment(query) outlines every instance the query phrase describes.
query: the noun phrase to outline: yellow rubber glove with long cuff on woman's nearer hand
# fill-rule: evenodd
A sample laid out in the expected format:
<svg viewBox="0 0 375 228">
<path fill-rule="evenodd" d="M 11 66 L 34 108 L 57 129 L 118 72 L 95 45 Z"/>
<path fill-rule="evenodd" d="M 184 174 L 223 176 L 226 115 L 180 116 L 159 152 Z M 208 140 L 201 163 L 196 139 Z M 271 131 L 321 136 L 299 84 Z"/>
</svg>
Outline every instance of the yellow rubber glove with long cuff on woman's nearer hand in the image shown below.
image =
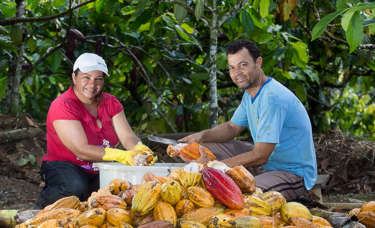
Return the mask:
<svg viewBox="0 0 375 228">
<path fill-rule="evenodd" d="M 147 166 L 149 164 L 149 154 L 146 151 L 121 150 L 110 147 L 105 147 L 104 151 L 103 161 L 117 161 L 130 166 Z"/>
</svg>

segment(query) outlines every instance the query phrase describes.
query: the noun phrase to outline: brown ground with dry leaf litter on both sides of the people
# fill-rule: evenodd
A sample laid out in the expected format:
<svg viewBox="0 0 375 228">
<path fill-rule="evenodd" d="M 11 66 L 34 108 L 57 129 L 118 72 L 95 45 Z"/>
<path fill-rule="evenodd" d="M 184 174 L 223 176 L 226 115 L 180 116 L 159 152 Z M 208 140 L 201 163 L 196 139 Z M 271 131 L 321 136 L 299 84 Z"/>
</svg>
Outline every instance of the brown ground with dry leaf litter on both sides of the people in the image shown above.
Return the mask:
<svg viewBox="0 0 375 228">
<path fill-rule="evenodd" d="M 22 131 L 13 134 L 15 129 Z M 27 137 L 22 138 L 22 134 Z M 11 139 L 6 137 L 9 135 Z M 29 116 L 16 119 L 0 114 L 1 209 L 31 209 L 34 206 L 44 184 L 39 165 L 45 145 L 43 124 L 36 124 Z M 324 202 L 375 200 L 375 142 L 358 141 L 334 129 L 314 136 L 314 146 L 318 174 L 330 174 L 323 192 Z M 157 150 L 159 154 L 163 148 Z M 166 161 L 167 158 L 162 159 Z"/>
</svg>

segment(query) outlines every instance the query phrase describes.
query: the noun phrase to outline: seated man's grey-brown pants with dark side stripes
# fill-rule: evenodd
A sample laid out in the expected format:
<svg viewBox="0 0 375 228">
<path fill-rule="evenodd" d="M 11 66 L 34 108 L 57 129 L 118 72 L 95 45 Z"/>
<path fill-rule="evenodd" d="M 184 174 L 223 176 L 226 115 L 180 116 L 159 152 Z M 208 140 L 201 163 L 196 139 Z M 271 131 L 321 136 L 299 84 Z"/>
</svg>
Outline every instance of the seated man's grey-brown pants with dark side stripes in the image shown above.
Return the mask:
<svg viewBox="0 0 375 228">
<path fill-rule="evenodd" d="M 230 140 L 226 143 L 204 143 L 221 161 L 248 152 L 254 145 L 238 140 Z M 255 178 L 255 184 L 263 192 L 278 191 L 287 201 L 292 201 L 297 196 L 306 196 L 308 191 L 304 187 L 303 178 L 285 170 L 269 171 L 263 167 L 249 167 L 248 170 Z"/>
</svg>

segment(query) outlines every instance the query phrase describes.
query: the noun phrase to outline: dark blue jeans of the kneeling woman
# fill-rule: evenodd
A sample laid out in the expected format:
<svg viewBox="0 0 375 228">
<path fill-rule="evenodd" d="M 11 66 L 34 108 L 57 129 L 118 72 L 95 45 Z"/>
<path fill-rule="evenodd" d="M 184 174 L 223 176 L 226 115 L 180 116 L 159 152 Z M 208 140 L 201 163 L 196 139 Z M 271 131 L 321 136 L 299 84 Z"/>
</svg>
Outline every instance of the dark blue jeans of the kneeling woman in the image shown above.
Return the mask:
<svg viewBox="0 0 375 228">
<path fill-rule="evenodd" d="M 43 161 L 41 175 L 45 181 L 39 199 L 42 208 L 67 196 L 85 201 L 100 187 L 99 174 L 87 173 L 71 162 Z"/>
</svg>

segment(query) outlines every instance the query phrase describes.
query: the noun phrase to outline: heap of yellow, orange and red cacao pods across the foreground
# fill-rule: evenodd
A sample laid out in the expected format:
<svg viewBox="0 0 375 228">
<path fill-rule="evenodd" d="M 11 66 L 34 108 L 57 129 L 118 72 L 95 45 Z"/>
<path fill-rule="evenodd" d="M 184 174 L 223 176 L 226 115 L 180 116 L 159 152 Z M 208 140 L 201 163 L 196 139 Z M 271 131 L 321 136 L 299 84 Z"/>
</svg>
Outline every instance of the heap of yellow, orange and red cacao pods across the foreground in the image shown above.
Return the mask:
<svg viewBox="0 0 375 228">
<path fill-rule="evenodd" d="M 62 198 L 16 228 L 332 227 L 279 192 L 263 193 L 243 166 L 219 166 L 190 163 L 168 176 L 147 172 L 137 185 L 116 178 L 87 201 Z M 374 228 L 374 209 L 372 201 L 350 213 Z"/>
</svg>

